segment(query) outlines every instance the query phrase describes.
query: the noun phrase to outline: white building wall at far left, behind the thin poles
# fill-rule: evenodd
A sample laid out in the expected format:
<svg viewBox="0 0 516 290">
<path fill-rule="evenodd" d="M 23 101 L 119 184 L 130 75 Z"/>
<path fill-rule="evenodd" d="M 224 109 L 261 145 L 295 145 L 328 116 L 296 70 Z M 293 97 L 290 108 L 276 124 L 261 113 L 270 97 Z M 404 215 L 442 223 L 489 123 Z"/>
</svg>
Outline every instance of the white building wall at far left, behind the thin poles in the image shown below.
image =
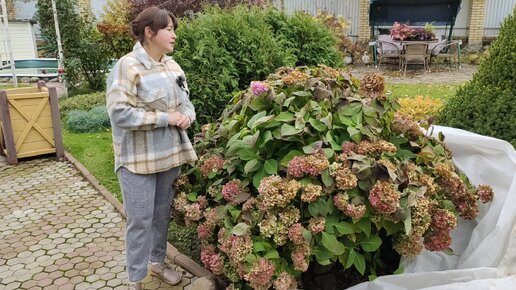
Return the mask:
<svg viewBox="0 0 516 290">
<path fill-rule="evenodd" d="M 13 49 L 14 59 L 36 58 L 36 39 L 32 25 L 28 21 L 9 22 L 9 37 Z M 0 33 L 0 53 L 5 60 L 6 47 L 3 45 L 3 33 Z"/>
</svg>

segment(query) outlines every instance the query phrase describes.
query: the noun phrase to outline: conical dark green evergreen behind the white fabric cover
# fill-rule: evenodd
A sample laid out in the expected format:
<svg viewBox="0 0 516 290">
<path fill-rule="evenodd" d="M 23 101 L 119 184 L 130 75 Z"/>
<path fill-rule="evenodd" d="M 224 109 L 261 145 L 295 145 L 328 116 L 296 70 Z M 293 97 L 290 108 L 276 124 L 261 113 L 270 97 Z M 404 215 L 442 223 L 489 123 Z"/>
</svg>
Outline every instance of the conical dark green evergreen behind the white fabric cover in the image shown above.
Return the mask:
<svg viewBox="0 0 516 290">
<path fill-rule="evenodd" d="M 516 17 L 507 17 L 473 80 L 445 105 L 441 124 L 504 139 L 516 146 Z"/>
</svg>

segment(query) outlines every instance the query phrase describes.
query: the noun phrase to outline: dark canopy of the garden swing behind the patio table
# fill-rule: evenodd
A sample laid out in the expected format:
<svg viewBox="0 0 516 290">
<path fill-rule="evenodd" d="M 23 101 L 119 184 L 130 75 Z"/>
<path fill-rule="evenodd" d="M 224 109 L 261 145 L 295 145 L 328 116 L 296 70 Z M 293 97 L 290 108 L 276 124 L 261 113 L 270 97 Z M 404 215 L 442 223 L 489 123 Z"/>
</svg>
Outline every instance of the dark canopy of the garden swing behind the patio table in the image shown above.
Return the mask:
<svg viewBox="0 0 516 290">
<path fill-rule="evenodd" d="M 392 26 L 394 22 L 409 25 L 444 26 L 451 38 L 453 25 L 459 13 L 461 0 L 371 0 L 369 24 L 373 37 L 380 26 Z"/>
</svg>

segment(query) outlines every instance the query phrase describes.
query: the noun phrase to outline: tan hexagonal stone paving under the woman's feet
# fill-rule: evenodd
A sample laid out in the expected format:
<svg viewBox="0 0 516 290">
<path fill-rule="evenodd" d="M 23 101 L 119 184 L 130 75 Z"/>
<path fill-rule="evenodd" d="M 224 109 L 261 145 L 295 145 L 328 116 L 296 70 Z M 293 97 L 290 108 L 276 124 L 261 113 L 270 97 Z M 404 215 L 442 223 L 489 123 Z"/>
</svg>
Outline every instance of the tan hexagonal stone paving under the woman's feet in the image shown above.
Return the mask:
<svg viewBox="0 0 516 290">
<path fill-rule="evenodd" d="M 0 229 L 0 289 L 126 289 L 125 221 L 68 161 L 0 156 Z M 181 284 L 145 289 L 196 278 L 171 266 Z"/>
</svg>

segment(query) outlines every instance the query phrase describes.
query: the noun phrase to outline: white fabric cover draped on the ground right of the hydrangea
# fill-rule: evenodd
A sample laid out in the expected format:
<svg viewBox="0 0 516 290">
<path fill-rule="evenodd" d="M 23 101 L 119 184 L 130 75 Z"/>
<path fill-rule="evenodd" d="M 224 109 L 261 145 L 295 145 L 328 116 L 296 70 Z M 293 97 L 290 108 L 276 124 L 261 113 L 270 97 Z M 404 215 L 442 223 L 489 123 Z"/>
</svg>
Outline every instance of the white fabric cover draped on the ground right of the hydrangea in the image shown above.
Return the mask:
<svg viewBox="0 0 516 290">
<path fill-rule="evenodd" d="M 459 219 L 451 232 L 456 255 L 425 250 L 404 261 L 404 274 L 349 290 L 516 289 L 516 151 L 506 141 L 464 130 L 434 126 L 432 135 L 439 132 L 471 183 L 493 187 L 493 201 L 480 204 L 476 220 Z"/>
</svg>

